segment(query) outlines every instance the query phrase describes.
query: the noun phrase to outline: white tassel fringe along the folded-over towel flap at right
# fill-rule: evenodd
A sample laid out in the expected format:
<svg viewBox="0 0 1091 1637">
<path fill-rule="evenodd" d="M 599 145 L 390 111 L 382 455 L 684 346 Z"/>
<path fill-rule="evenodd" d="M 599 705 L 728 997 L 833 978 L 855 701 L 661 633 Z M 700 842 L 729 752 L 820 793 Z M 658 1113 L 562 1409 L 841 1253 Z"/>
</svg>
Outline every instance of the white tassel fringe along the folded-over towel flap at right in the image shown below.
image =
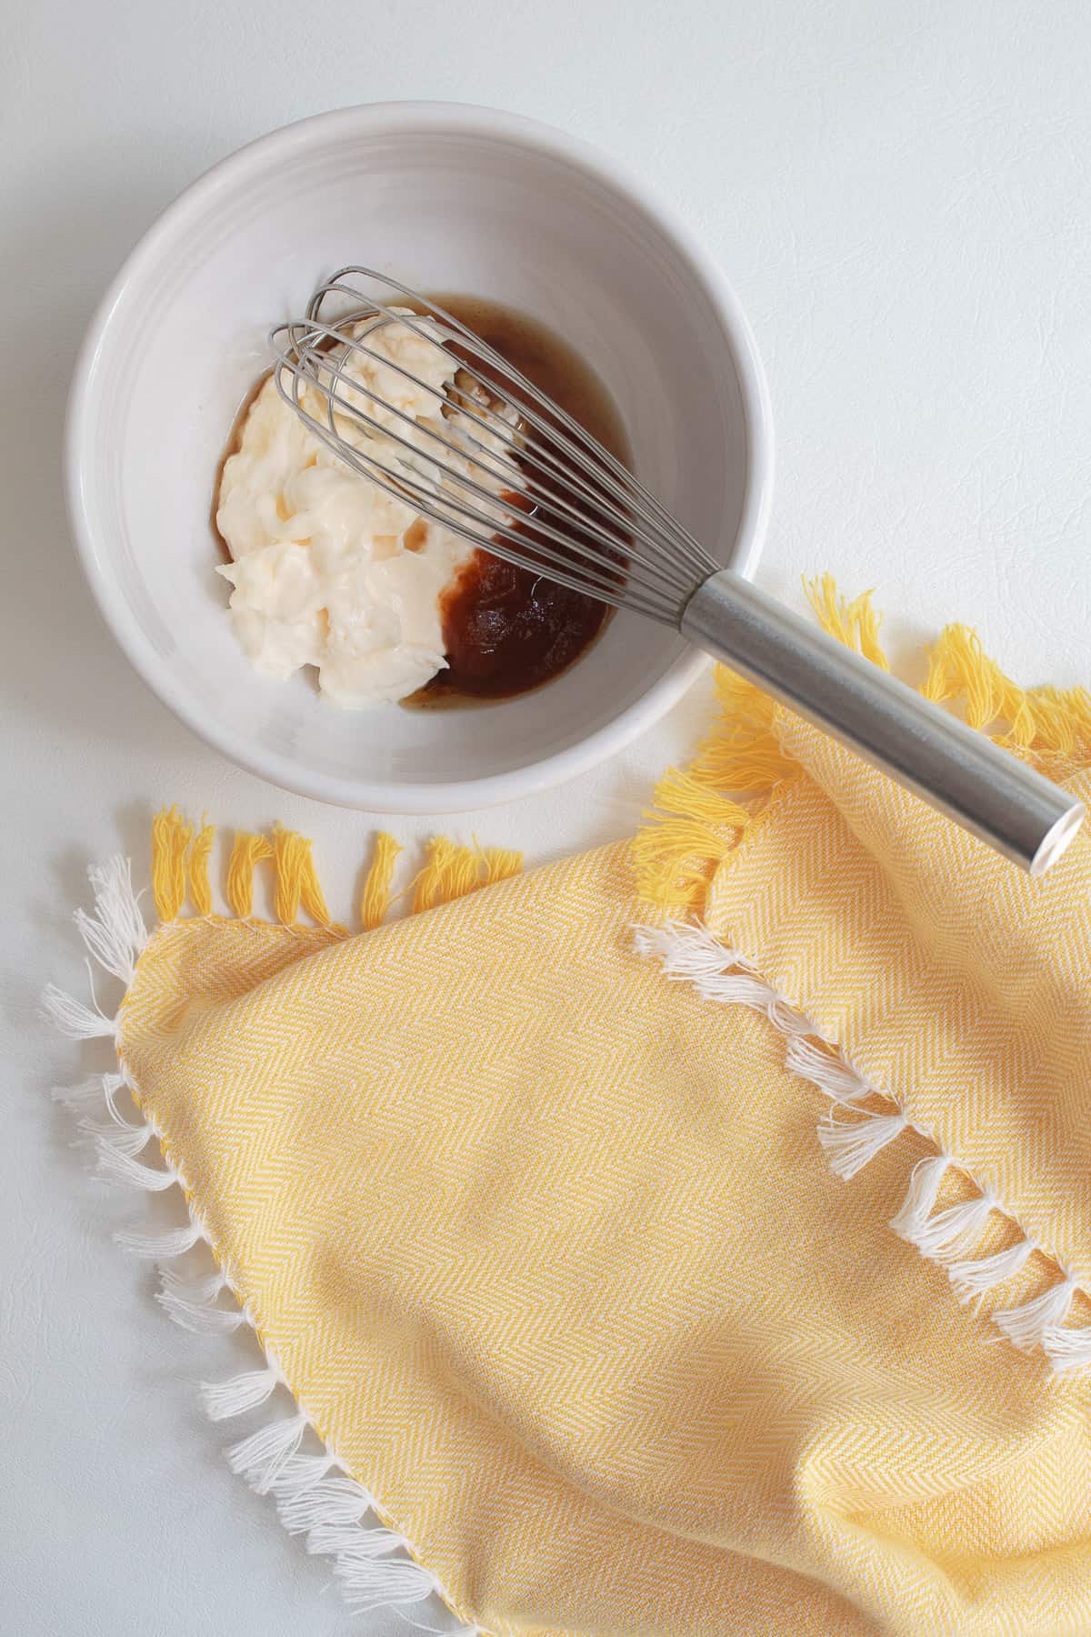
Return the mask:
<svg viewBox="0 0 1091 1637">
<path fill-rule="evenodd" d="M 823 1035 L 818 1023 L 767 984 L 754 963 L 738 949 L 720 943 L 698 922 L 669 920 L 659 927 L 635 927 L 633 940 L 636 953 L 659 961 L 666 977 L 692 984 L 705 1000 L 751 1007 L 785 1036 L 785 1066 L 829 1098 L 829 1108 L 818 1123 L 818 1141 L 834 1175 L 846 1182 L 855 1177 L 903 1131 L 916 1131 L 939 1149 L 918 1161 L 909 1172 L 906 1197 L 890 1226 L 947 1272 L 960 1301 L 975 1300 L 1014 1278 L 1032 1252 L 1044 1249 L 1004 1210 L 988 1182 L 972 1177 L 965 1166 L 945 1154 L 934 1131 L 909 1120 L 896 1097 L 867 1080 L 841 1048 Z M 882 1102 L 883 1107 L 864 1107 L 869 1100 Z M 939 1190 L 952 1167 L 970 1177 L 978 1192 L 937 1211 Z M 1006 1251 L 973 1256 L 993 1211 L 1017 1226 L 1022 1238 Z M 1062 1270 L 1058 1283 L 1048 1285 L 1017 1308 L 993 1313 L 991 1323 L 1016 1347 L 1040 1347 L 1053 1370 L 1086 1369 L 1091 1365 L 1091 1324 L 1065 1323 L 1076 1290 L 1083 1287 L 1075 1275 Z"/>
</svg>

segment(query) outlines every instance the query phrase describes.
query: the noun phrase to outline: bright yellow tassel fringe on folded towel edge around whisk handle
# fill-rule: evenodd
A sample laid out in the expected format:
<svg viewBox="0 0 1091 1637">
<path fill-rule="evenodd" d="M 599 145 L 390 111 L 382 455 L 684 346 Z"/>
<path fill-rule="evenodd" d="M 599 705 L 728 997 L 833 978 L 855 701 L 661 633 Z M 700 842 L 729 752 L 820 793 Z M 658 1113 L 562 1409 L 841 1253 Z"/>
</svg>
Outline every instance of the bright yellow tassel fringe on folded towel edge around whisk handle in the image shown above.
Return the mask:
<svg viewBox="0 0 1091 1637">
<path fill-rule="evenodd" d="M 803 589 L 831 637 L 883 671 L 870 593 L 849 601 L 833 575 L 805 579 Z M 716 666 L 721 719 L 685 771 L 671 768 L 656 786 L 648 823 L 633 841 L 640 895 L 671 910 L 700 909 L 720 863 L 739 845 L 774 791 L 793 779 L 797 763 L 775 730 L 775 702 L 733 671 Z M 1091 694 L 1083 688 L 1024 689 L 981 648 L 968 625 L 949 625 L 932 647 L 926 699 L 962 701 L 970 727 L 1024 756 L 1052 779 L 1091 764 Z"/>
</svg>

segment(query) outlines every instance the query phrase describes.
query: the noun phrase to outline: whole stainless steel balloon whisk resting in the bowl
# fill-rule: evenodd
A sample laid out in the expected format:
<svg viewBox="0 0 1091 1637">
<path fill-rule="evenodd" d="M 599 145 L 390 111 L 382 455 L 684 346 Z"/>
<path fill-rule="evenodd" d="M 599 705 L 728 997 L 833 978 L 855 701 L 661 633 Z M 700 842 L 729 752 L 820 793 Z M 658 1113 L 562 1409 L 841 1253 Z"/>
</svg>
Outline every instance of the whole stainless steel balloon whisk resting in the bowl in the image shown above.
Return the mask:
<svg viewBox="0 0 1091 1637">
<path fill-rule="evenodd" d="M 559 404 L 419 291 L 345 267 L 270 339 L 281 398 L 420 516 L 680 630 L 1035 874 L 1078 833 L 1075 797 L 718 563 Z"/>
</svg>

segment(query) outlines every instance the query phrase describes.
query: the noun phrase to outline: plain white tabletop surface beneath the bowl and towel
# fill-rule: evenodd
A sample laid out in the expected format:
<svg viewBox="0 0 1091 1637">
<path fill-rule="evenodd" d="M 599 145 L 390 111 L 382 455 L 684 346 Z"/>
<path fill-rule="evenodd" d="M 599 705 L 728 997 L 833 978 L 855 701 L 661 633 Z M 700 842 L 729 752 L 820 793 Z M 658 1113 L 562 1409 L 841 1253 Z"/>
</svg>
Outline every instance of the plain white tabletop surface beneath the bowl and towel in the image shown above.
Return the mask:
<svg viewBox="0 0 1091 1637">
<path fill-rule="evenodd" d="M 5 28 L 0 1629 L 327 1637 L 358 1627 L 200 1416 L 209 1344 L 170 1326 L 110 1244 L 132 1202 L 97 1192 L 65 1146 L 46 1087 L 75 1054 L 36 997 L 47 977 L 82 982 L 67 909 L 87 859 L 123 845 L 142 876 L 162 802 L 309 832 L 345 913 L 371 825 L 204 750 L 100 625 L 59 481 L 92 308 L 186 182 L 288 120 L 437 97 L 568 126 L 674 198 L 754 324 L 779 468 L 759 578 L 797 599 L 798 576 L 829 566 L 847 591 L 875 586 L 895 653 L 968 617 L 1022 681 L 1083 681 L 1091 13 L 38 0 Z M 617 837 L 705 715 L 698 688 L 581 786 L 451 828 L 532 861 Z"/>
</svg>

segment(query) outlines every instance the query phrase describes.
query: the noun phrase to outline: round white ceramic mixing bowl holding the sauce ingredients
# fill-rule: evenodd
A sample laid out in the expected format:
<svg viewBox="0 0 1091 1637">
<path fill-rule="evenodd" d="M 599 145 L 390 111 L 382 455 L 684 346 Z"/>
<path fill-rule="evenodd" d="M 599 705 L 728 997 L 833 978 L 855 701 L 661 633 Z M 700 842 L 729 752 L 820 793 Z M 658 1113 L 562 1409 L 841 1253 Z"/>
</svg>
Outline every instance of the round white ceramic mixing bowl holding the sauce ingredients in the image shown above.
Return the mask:
<svg viewBox="0 0 1091 1637">
<path fill-rule="evenodd" d="M 597 370 L 638 475 L 749 573 L 770 429 L 743 314 L 689 232 L 613 160 L 487 108 L 343 108 L 195 182 L 121 268 L 75 370 L 67 480 L 92 589 L 144 681 L 275 784 L 379 812 L 481 807 L 568 779 L 654 722 L 703 660 L 630 614 L 538 692 L 342 712 L 244 660 L 213 573 L 218 462 L 272 324 L 366 262 L 543 319 Z"/>
</svg>

